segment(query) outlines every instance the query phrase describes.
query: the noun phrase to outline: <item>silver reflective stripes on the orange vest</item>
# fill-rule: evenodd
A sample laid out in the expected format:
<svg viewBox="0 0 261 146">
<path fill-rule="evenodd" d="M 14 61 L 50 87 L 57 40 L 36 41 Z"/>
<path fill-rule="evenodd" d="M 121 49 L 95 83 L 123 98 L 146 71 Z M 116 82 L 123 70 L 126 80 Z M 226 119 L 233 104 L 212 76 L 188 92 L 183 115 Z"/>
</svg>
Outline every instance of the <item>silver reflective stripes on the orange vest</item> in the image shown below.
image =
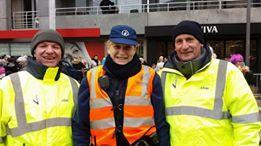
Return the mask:
<svg viewBox="0 0 261 146">
<path fill-rule="evenodd" d="M 90 78 L 90 87 L 95 87 L 95 78 L 98 72 L 98 67 L 93 68 L 91 70 L 91 78 Z M 149 68 L 147 66 L 143 66 L 144 74 L 142 78 L 142 93 L 140 96 L 125 96 L 125 105 L 133 105 L 133 106 L 150 106 L 151 101 L 150 98 L 145 98 L 148 95 L 147 91 L 147 84 L 151 77 Z M 101 107 L 110 107 L 112 103 L 110 99 L 105 100 L 104 98 L 99 98 L 96 95 L 95 88 L 91 88 L 91 100 L 92 103 L 90 107 L 93 109 L 101 108 Z M 144 97 L 144 98 L 141 98 Z M 114 118 L 106 118 L 102 120 L 95 120 L 91 121 L 92 129 L 106 129 L 115 127 L 115 120 Z M 154 125 L 154 120 L 150 117 L 140 117 L 140 118 L 131 118 L 131 117 L 124 117 L 124 127 L 138 127 L 140 125 Z"/>
</svg>

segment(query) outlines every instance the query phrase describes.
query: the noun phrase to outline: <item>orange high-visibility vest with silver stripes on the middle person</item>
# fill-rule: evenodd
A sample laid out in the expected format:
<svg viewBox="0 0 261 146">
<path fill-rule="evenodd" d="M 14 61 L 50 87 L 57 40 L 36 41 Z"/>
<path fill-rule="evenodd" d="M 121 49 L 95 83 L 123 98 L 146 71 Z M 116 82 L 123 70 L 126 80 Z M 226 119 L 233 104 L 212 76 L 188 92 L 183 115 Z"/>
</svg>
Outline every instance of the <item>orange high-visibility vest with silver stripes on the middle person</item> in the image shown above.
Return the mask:
<svg viewBox="0 0 261 146">
<path fill-rule="evenodd" d="M 113 106 L 107 93 L 98 84 L 98 78 L 105 74 L 102 66 L 93 68 L 87 73 L 90 85 L 90 126 L 92 142 L 98 145 L 116 145 L 115 121 Z M 152 93 L 153 69 L 142 66 L 136 75 L 127 83 L 124 102 L 123 134 L 133 143 L 144 134 L 156 131 L 154 126 Z M 93 88 L 95 87 L 95 88 Z M 148 132 L 148 133 L 146 133 Z"/>
</svg>

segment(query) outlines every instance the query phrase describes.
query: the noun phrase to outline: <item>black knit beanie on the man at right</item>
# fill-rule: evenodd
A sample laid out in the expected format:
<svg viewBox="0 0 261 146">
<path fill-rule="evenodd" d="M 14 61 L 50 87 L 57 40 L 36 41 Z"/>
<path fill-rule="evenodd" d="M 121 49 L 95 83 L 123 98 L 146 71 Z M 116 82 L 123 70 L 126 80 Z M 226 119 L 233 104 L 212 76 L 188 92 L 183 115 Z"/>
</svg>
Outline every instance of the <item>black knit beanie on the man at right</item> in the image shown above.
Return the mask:
<svg viewBox="0 0 261 146">
<path fill-rule="evenodd" d="M 201 44 L 205 44 L 200 24 L 195 21 L 185 20 L 176 25 L 172 34 L 173 40 L 175 41 L 176 37 L 180 34 L 193 35 Z"/>
</svg>

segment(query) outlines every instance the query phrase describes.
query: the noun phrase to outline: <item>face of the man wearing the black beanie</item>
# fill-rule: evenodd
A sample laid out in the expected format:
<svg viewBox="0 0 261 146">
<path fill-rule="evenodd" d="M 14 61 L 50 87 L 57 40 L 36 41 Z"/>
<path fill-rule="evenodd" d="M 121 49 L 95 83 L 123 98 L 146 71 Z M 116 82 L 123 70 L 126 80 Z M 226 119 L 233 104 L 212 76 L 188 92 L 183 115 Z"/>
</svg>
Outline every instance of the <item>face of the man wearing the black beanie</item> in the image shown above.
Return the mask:
<svg viewBox="0 0 261 146">
<path fill-rule="evenodd" d="M 175 39 L 175 51 L 181 61 L 191 61 L 201 54 L 201 44 L 193 35 L 180 34 Z"/>
</svg>

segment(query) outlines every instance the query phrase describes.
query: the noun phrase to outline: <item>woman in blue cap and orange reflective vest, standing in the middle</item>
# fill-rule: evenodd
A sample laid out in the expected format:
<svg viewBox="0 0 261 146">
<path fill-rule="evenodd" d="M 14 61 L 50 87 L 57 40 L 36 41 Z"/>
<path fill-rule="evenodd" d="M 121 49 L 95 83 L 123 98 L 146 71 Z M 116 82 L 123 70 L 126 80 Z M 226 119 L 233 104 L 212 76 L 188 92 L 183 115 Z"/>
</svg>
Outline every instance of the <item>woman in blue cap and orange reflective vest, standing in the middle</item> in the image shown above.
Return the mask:
<svg viewBox="0 0 261 146">
<path fill-rule="evenodd" d="M 74 145 L 169 146 L 160 78 L 141 64 L 136 31 L 112 27 L 106 48 L 105 64 L 89 70 L 80 86 Z"/>
</svg>

